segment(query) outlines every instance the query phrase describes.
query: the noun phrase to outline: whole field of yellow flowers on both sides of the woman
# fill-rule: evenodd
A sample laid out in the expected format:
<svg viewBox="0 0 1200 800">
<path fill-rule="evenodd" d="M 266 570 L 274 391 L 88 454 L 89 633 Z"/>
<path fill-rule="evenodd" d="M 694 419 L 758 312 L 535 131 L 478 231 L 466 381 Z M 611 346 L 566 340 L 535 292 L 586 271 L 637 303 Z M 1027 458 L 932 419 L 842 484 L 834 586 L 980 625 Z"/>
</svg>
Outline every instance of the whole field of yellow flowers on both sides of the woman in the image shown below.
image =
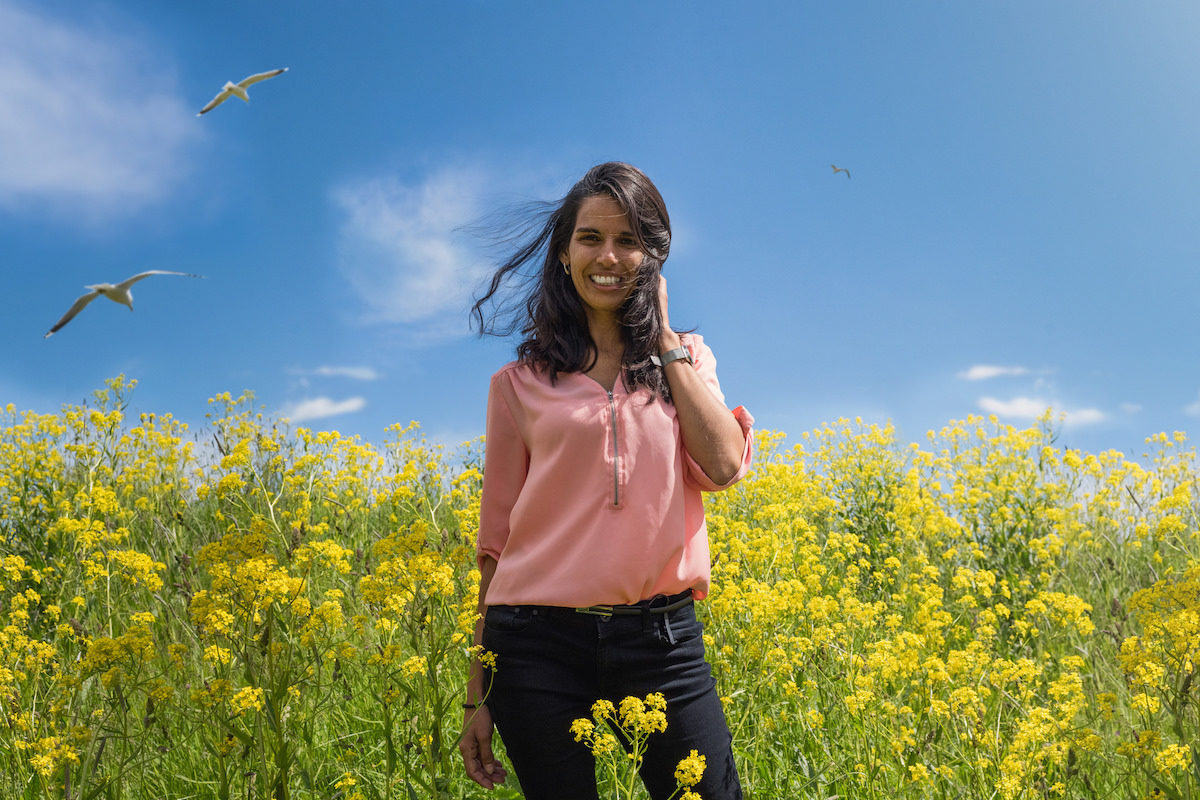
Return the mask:
<svg viewBox="0 0 1200 800">
<path fill-rule="evenodd" d="M 0 411 L 0 796 L 520 796 L 456 748 L 481 444 L 374 449 L 248 395 L 193 433 L 132 385 Z M 1049 421 L 781 443 L 708 498 L 749 798 L 1200 798 L 1182 434 L 1136 463 Z"/>
</svg>

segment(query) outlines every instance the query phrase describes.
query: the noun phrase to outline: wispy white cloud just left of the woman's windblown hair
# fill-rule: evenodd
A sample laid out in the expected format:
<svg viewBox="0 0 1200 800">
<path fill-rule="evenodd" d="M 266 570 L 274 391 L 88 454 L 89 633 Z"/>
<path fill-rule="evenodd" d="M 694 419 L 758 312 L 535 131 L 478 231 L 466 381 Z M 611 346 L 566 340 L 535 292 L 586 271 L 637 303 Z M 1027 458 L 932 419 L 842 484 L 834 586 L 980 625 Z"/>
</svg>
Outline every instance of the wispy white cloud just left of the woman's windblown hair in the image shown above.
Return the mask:
<svg viewBox="0 0 1200 800">
<path fill-rule="evenodd" d="M 346 212 L 340 264 L 367 321 L 466 335 L 488 265 L 456 234 L 480 217 L 481 173 L 444 169 L 424 182 L 373 179 L 334 192 Z"/>
</svg>

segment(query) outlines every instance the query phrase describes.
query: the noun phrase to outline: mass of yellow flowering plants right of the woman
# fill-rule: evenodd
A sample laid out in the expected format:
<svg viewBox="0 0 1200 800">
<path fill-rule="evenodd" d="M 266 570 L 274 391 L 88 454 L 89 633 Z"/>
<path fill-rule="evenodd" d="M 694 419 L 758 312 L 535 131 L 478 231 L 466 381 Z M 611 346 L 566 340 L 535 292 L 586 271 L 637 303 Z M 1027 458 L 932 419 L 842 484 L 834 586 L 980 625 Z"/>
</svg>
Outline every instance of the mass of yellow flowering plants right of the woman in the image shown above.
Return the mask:
<svg viewBox="0 0 1200 800">
<path fill-rule="evenodd" d="M 1186 747 L 1194 723 L 1164 720 L 1156 698 L 1200 640 L 1184 601 L 1200 554 L 1193 456 L 1156 439 L 1147 470 L 1054 435 L 1049 420 L 971 417 L 901 447 L 888 427 L 842 420 L 780 452 L 760 434 L 751 476 L 708 499 L 706 644 L 740 696 L 726 708 L 746 758 L 788 738 L 823 770 L 760 790 L 1086 793 L 1129 775 L 1104 766 L 1121 720 L 1182 722 Z M 1141 576 L 1181 563 L 1134 599 Z M 1141 634 L 1118 657 L 1132 624 Z M 1122 672 L 1140 693 L 1121 691 Z M 1140 751 L 1147 770 L 1182 758 L 1166 746 Z"/>
</svg>

